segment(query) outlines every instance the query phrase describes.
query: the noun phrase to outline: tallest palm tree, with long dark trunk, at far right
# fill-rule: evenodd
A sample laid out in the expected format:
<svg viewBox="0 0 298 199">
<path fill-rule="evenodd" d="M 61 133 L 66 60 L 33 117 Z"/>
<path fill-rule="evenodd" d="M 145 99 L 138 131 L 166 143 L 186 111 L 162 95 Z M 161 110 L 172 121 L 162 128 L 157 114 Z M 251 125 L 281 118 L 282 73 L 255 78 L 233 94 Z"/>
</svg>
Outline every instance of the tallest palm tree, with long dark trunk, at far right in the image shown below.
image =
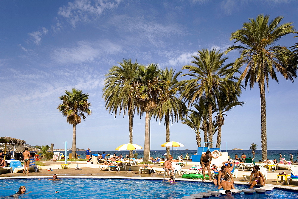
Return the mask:
<svg viewBox="0 0 298 199">
<path fill-rule="evenodd" d="M 269 77 L 277 80 L 276 71 L 280 72 L 286 80 L 294 82 L 293 77 L 297 77 L 297 68 L 288 64 L 291 58 L 291 51 L 285 46 L 276 45 L 276 42 L 285 35 L 294 33 L 292 22 L 280 24 L 283 17 L 279 16 L 269 22 L 269 15 L 258 15 L 256 20 L 249 19 L 244 23 L 243 28 L 231 34 L 230 39 L 234 43 L 240 42 L 243 45 L 230 46 L 226 53 L 231 50 L 240 50 L 240 57 L 235 61 L 235 67 L 239 68 L 247 64 L 240 75 L 238 84 L 245 81 L 245 88 L 249 83 L 249 88 L 254 88 L 257 83 L 261 97 L 261 143 L 262 159 L 267 159 L 267 134 L 266 134 L 266 97 L 265 81 L 267 90 L 269 87 Z"/>
</svg>

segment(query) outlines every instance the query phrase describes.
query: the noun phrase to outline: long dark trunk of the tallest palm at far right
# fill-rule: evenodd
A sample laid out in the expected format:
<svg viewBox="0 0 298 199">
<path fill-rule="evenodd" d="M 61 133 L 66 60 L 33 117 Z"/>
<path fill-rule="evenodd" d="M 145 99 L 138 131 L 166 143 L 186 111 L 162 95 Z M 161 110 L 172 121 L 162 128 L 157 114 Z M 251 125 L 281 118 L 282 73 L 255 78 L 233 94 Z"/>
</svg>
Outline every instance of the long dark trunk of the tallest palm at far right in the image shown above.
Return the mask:
<svg viewBox="0 0 298 199">
<path fill-rule="evenodd" d="M 265 85 L 263 81 L 261 87 L 261 143 L 262 143 L 262 160 L 267 159 L 267 130 L 266 130 L 266 97 Z"/>
</svg>

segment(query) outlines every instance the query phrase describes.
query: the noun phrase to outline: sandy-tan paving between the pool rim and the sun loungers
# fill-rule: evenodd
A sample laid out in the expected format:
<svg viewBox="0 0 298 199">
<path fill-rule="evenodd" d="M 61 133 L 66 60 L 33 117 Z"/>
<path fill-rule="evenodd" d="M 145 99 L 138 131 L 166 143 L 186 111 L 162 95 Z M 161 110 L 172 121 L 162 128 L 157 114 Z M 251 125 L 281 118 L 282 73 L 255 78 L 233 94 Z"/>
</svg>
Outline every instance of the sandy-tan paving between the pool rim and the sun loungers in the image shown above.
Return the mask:
<svg viewBox="0 0 298 199">
<path fill-rule="evenodd" d="M 52 161 L 42 161 L 45 162 L 45 165 L 48 165 L 49 168 L 51 168 L 51 165 L 55 164 L 55 162 Z M 57 163 L 58 164 L 58 163 Z M 62 163 L 60 163 L 62 164 Z M 72 163 L 76 164 L 76 162 Z M 100 164 L 98 164 L 99 166 Z M 186 167 L 183 167 L 184 169 L 189 169 L 192 165 L 187 165 Z M 154 167 L 160 167 L 159 165 L 154 165 Z M 38 172 L 31 172 L 29 174 L 23 174 L 21 171 L 18 173 L 1 173 L 1 177 L 26 177 L 26 176 L 49 176 L 49 178 L 52 178 L 52 175 L 55 173 L 57 174 L 58 178 L 60 176 L 127 176 L 127 177 L 155 177 L 155 178 L 163 178 L 163 174 L 157 175 L 157 173 L 135 173 L 137 171 L 134 171 L 133 173 L 128 173 L 127 171 L 120 170 L 119 172 L 117 171 L 108 171 L 108 170 L 100 170 L 99 168 L 89 168 L 89 167 L 81 167 L 80 170 L 76 170 L 75 168 L 69 168 L 69 169 L 54 169 L 53 171 L 48 171 L 48 170 L 40 170 Z M 249 181 L 243 181 L 242 177 L 242 171 L 238 171 L 238 178 L 234 179 L 234 181 L 239 181 L 239 182 L 249 182 Z M 248 170 L 245 170 L 244 172 L 249 172 Z M 268 173 L 280 173 L 282 170 L 277 170 L 277 171 L 268 171 Z M 285 171 L 286 173 L 289 173 L 290 171 Z M 168 178 L 168 177 L 167 177 Z M 179 180 L 181 176 L 176 180 Z M 267 179 L 266 184 L 272 184 L 272 185 L 282 185 L 282 186 L 293 186 L 293 187 L 298 187 L 298 181 L 293 180 L 291 185 L 286 185 L 279 182 L 276 182 L 276 179 Z M 211 184 L 210 184 L 211 186 Z M 212 185 L 213 186 L 213 185 Z"/>
</svg>

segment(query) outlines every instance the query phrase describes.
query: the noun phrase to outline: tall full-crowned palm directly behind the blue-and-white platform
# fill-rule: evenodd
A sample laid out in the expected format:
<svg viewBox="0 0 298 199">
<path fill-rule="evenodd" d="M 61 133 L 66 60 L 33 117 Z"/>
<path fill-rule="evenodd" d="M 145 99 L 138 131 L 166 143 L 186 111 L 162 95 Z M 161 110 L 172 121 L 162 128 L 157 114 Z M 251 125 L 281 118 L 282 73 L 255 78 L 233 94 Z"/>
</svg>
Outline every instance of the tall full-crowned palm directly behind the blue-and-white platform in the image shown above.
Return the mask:
<svg viewBox="0 0 298 199">
<path fill-rule="evenodd" d="M 228 57 L 222 57 L 223 53 L 219 50 L 202 49 L 198 51 L 198 56 L 193 56 L 195 60 L 191 63 L 193 65 L 185 65 L 182 69 L 187 69 L 191 73 L 183 74 L 182 76 L 191 76 L 190 80 L 187 80 L 185 86 L 184 97 L 188 100 L 189 105 L 205 94 L 208 101 L 208 135 L 210 148 L 212 144 L 212 101 L 214 101 L 215 93 L 222 91 L 227 95 L 231 91 L 236 90 L 234 80 L 237 77 L 234 76 L 235 69 L 232 69 L 233 63 L 224 65 L 224 62 Z"/>
</svg>

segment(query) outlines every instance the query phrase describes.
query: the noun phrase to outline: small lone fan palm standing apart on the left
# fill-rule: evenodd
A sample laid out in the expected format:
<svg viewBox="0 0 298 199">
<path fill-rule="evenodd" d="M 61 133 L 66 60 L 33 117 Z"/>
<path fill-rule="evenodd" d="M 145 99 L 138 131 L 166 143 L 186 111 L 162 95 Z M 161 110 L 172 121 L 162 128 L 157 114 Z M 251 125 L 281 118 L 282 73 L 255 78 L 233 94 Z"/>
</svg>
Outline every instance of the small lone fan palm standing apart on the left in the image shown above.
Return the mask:
<svg viewBox="0 0 298 199">
<path fill-rule="evenodd" d="M 82 90 L 72 88 L 72 91 L 65 91 L 66 95 L 59 97 L 63 102 L 58 105 L 59 112 L 66 117 L 66 121 L 73 125 L 72 134 L 72 157 L 76 154 L 76 125 L 80 124 L 82 119 L 85 120 L 84 114 L 90 115 L 91 110 L 89 109 L 91 103 L 88 102 L 88 93 L 82 93 Z"/>
</svg>

